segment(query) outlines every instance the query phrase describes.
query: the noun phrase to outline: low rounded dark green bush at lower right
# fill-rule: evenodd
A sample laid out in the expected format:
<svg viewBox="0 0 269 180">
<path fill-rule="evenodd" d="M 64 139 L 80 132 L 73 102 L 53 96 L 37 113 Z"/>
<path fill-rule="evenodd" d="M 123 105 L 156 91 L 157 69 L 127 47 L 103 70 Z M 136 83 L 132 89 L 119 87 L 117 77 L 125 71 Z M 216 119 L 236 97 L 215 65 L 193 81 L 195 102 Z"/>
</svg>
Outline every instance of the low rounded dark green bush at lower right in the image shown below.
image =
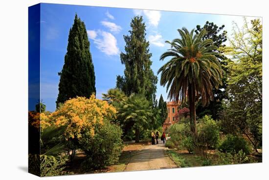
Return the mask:
<svg viewBox="0 0 269 180">
<path fill-rule="evenodd" d="M 238 153 L 242 150 L 245 154 L 249 155 L 250 148 L 247 141 L 240 136 L 237 135 L 227 135 L 219 146 L 219 150 L 225 153 Z"/>
</svg>

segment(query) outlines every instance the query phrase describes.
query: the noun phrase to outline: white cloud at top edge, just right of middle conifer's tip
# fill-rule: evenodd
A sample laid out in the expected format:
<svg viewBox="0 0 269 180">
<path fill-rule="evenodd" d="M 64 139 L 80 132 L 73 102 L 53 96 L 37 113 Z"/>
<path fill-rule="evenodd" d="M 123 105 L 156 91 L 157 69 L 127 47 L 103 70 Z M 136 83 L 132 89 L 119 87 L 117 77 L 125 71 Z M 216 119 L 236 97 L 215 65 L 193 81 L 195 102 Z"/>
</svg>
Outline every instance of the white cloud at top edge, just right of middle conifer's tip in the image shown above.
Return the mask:
<svg viewBox="0 0 269 180">
<path fill-rule="evenodd" d="M 161 17 L 160 11 L 134 9 L 133 12 L 135 15 L 146 16 L 149 25 L 158 26 Z"/>
</svg>

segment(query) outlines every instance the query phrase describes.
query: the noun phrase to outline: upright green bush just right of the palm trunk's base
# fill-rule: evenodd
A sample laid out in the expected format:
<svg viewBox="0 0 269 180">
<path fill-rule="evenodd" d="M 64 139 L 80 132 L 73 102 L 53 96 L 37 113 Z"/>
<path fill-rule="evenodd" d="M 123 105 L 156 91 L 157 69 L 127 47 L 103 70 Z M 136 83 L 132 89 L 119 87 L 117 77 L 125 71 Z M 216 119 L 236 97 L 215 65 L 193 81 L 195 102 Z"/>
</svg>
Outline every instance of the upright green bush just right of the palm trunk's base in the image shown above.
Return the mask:
<svg viewBox="0 0 269 180">
<path fill-rule="evenodd" d="M 199 119 L 197 125 L 197 141 L 195 142 L 199 152 L 202 151 L 203 158 L 207 158 L 207 151 L 216 149 L 220 142 L 220 131 L 211 116 L 205 115 Z"/>
</svg>

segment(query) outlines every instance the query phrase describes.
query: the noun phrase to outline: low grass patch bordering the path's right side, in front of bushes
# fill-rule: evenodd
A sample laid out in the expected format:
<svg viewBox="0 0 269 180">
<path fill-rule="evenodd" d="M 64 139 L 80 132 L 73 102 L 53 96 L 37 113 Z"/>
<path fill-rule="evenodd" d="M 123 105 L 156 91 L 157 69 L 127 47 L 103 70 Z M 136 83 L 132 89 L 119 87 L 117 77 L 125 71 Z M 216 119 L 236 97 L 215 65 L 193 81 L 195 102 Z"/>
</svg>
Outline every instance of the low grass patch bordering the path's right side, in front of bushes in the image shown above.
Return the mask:
<svg viewBox="0 0 269 180">
<path fill-rule="evenodd" d="M 203 163 L 202 158 L 194 154 L 176 150 L 167 150 L 167 153 L 179 167 L 197 167 Z"/>
</svg>

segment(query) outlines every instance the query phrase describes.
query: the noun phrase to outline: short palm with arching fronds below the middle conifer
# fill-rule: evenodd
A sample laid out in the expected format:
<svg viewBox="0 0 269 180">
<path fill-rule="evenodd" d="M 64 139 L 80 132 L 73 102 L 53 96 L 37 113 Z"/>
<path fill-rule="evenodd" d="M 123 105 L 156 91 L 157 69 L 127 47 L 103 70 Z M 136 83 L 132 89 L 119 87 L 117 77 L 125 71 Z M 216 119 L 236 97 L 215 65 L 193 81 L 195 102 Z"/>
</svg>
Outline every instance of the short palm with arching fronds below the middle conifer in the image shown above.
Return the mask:
<svg viewBox="0 0 269 180">
<path fill-rule="evenodd" d="M 140 94 L 132 94 L 118 109 L 119 118 L 134 122 L 135 142 L 139 142 L 140 131 L 149 126 L 152 115 L 150 102 Z"/>
</svg>

